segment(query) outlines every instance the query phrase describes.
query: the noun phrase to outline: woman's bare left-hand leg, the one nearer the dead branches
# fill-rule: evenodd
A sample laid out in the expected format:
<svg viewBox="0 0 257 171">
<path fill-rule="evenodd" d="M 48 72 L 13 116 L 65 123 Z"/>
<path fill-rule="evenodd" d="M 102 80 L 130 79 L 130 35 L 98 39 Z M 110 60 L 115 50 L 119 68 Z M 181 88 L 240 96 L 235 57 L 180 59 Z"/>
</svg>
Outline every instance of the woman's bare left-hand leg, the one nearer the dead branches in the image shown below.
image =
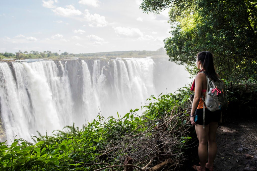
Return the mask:
<svg viewBox="0 0 257 171">
<path fill-rule="evenodd" d="M 209 133 L 209 125 L 205 126 L 203 129 L 203 125 L 197 124 L 195 126 L 197 138 L 199 140 L 198 146 L 198 155 L 201 163 L 200 170 L 205 170 L 205 164 L 207 161 L 207 141 L 208 141 L 208 133 Z"/>
</svg>

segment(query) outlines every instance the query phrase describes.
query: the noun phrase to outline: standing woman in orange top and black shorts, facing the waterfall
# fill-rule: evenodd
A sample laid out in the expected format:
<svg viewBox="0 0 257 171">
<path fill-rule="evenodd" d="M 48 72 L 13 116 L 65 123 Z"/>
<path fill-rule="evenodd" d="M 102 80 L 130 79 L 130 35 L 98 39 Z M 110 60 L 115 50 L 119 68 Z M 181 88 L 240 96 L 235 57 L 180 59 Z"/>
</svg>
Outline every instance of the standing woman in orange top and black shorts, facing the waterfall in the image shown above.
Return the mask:
<svg viewBox="0 0 257 171">
<path fill-rule="evenodd" d="M 217 153 L 216 132 L 221 112 L 209 111 L 205 106 L 205 129 L 203 128 L 203 100 L 207 89 L 207 74 L 212 80 L 218 80 L 218 74 L 214 69 L 213 56 L 208 51 L 202 51 L 197 54 L 196 66 L 200 72 L 196 75 L 191 90 L 195 91 L 195 97 L 192 102 L 192 110 L 190 113 L 190 121 L 195 125 L 197 138 L 199 140 L 198 155 L 201 166 L 193 166 L 195 170 L 213 170 L 213 163 Z M 202 73 L 204 71 L 205 73 Z M 195 120 L 197 115 L 198 121 Z M 207 161 L 207 142 L 208 142 L 208 162 Z"/>
</svg>

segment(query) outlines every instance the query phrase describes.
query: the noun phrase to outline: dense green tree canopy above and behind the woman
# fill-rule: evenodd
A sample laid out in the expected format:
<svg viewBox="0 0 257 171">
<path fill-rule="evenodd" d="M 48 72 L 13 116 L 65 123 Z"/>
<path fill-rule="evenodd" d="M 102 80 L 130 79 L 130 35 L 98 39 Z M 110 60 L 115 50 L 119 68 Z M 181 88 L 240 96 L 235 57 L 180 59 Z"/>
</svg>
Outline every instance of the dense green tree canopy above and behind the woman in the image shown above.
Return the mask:
<svg viewBox="0 0 257 171">
<path fill-rule="evenodd" d="M 143 12 L 169 12 L 171 37 L 164 40 L 170 61 L 196 73 L 199 51 L 214 55 L 224 78 L 256 80 L 257 1 L 255 0 L 143 0 Z"/>
</svg>

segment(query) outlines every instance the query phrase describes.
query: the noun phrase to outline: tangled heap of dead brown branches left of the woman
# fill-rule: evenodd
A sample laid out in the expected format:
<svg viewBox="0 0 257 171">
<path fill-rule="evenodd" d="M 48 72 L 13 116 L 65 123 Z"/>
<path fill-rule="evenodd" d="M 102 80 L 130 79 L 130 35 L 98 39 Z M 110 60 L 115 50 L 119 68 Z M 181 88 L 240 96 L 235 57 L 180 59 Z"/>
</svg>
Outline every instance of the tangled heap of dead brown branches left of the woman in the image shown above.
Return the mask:
<svg viewBox="0 0 257 171">
<path fill-rule="evenodd" d="M 175 107 L 167 115 L 156 120 L 144 118 L 145 122 L 131 133 L 119 135 L 118 138 L 113 137 L 113 141 L 107 144 L 99 158 L 113 161 L 114 165 L 98 170 L 122 167 L 124 165 L 120 163 L 124 162 L 127 157 L 133 159 L 133 167 L 137 170 L 156 170 L 166 165 L 170 166 L 171 163 L 174 165 L 170 168 L 172 169 L 183 162 L 185 158 L 182 148 L 185 147 L 184 140 L 188 137 L 190 128 L 189 118 L 185 113 L 190 108 L 177 113 L 174 110 Z M 153 166 L 156 167 L 153 168 Z"/>
</svg>

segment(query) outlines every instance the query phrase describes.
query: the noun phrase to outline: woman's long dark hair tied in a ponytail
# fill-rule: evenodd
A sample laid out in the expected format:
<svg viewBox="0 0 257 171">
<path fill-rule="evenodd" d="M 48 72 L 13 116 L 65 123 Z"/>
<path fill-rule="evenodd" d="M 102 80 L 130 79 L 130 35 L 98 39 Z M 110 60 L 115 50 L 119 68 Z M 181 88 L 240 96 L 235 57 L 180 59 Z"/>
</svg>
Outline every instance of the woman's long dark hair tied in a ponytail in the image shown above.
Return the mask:
<svg viewBox="0 0 257 171">
<path fill-rule="evenodd" d="M 216 71 L 214 69 L 213 56 L 209 51 L 202 51 L 197 54 L 197 61 L 203 63 L 204 71 L 213 81 L 218 81 Z"/>
</svg>

